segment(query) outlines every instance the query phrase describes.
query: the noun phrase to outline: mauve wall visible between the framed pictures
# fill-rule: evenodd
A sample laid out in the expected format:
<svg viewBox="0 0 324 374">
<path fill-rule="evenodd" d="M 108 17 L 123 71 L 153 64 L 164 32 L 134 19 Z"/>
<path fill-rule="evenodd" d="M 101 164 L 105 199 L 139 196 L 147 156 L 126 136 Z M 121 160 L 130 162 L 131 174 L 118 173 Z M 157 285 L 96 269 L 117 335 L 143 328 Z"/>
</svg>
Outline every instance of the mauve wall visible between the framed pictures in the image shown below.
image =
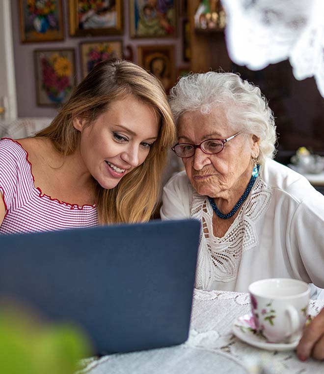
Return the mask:
<svg viewBox="0 0 324 374">
<path fill-rule="evenodd" d="M 113 36 L 93 37 L 70 37 L 68 30 L 68 1 L 63 0 L 64 35 L 63 41 L 47 43 L 25 43 L 20 42 L 19 9 L 18 1 L 11 1 L 13 44 L 15 58 L 15 73 L 17 86 L 18 117 L 54 117 L 57 113 L 55 108 L 39 107 L 36 105 L 36 84 L 34 73 L 33 50 L 42 48 L 74 48 L 76 56 L 77 82 L 81 80 L 81 62 L 79 43 L 82 41 L 115 40 L 122 39 L 124 48 L 131 45 L 134 53 L 134 62 L 137 61 L 136 49 L 138 45 L 173 44 L 176 48 L 175 65 L 186 66 L 182 61 L 182 35 L 181 22 L 178 22 L 177 38 L 161 39 L 131 39 L 129 37 L 129 1 L 124 0 L 124 33 Z M 126 53 L 126 50 L 125 50 Z"/>
</svg>

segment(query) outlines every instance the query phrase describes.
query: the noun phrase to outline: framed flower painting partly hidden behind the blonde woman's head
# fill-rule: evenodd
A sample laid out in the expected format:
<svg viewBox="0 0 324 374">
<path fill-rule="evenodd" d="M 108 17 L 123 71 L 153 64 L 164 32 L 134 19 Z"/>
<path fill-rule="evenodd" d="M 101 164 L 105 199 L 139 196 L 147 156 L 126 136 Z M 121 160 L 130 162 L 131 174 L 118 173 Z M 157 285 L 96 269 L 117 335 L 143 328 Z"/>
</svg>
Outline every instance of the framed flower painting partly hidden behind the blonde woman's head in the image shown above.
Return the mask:
<svg viewBox="0 0 324 374">
<path fill-rule="evenodd" d="M 86 42 L 80 44 L 82 79 L 99 62 L 123 56 L 121 40 Z"/>
</svg>

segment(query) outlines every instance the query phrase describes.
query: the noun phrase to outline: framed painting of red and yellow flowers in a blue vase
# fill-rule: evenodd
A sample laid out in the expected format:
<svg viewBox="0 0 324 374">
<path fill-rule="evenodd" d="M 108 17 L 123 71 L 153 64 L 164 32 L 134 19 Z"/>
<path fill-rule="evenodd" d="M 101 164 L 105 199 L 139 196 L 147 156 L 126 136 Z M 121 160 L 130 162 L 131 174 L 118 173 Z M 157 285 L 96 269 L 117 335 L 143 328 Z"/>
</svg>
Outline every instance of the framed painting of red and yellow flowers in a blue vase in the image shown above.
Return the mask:
<svg viewBox="0 0 324 374">
<path fill-rule="evenodd" d="M 40 106 L 60 106 L 75 87 L 74 49 L 34 51 L 36 101 Z"/>
</svg>

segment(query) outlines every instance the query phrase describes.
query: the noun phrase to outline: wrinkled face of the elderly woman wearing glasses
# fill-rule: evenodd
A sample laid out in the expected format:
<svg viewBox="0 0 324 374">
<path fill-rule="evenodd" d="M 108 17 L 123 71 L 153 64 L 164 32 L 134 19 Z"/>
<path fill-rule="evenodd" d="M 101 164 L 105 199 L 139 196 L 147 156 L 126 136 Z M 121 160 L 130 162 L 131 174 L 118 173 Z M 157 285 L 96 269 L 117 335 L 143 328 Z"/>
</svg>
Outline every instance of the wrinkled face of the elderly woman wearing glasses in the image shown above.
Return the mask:
<svg viewBox="0 0 324 374">
<path fill-rule="evenodd" d="M 178 143 L 197 145 L 207 139 L 226 139 L 236 132 L 227 124 L 221 107 L 215 107 L 207 115 L 200 111 L 187 112 L 179 120 Z M 196 191 L 216 198 L 225 197 L 230 190 L 246 187 L 253 168 L 251 157 L 258 155 L 258 139 L 241 133 L 225 143 L 224 149 L 216 155 L 207 155 L 197 148 L 193 156 L 182 160 Z"/>
</svg>

